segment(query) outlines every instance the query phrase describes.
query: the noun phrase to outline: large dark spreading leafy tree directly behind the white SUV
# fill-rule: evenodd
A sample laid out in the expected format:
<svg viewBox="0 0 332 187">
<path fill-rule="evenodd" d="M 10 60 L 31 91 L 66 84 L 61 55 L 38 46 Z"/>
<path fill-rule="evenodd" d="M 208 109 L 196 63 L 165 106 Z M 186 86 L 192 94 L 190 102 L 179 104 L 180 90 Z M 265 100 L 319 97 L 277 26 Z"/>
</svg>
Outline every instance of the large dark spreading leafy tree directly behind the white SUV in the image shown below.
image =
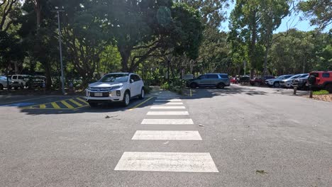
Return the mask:
<svg viewBox="0 0 332 187">
<path fill-rule="evenodd" d="M 122 70 L 132 72 L 149 57 L 170 52 L 194 55 L 203 30 L 199 13 L 170 0 L 106 1 L 109 35 L 114 35 Z M 135 55 L 133 55 L 135 53 Z"/>
</svg>

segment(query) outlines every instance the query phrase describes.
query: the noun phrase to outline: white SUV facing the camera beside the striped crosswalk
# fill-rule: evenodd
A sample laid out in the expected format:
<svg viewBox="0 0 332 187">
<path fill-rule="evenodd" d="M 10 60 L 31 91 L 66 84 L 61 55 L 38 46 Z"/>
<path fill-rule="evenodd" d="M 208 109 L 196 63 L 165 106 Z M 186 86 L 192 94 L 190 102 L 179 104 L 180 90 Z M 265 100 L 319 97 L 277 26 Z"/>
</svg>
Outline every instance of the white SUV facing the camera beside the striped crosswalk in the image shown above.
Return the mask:
<svg viewBox="0 0 332 187">
<path fill-rule="evenodd" d="M 123 106 L 128 106 L 135 96 L 140 99 L 145 96 L 144 83 L 138 74 L 111 73 L 89 84 L 85 99 L 92 107 L 106 102 L 121 102 Z"/>
</svg>

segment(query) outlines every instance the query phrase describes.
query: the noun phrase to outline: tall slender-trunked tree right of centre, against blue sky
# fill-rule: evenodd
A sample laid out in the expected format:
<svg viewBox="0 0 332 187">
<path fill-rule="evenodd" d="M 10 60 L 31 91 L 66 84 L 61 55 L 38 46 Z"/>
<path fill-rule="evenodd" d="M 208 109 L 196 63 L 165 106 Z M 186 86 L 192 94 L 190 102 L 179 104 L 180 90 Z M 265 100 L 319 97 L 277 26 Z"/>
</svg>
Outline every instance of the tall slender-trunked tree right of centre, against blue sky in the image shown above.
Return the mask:
<svg viewBox="0 0 332 187">
<path fill-rule="evenodd" d="M 262 45 L 265 45 L 265 73 L 267 53 L 272 42 L 272 32 L 287 16 L 289 6 L 284 0 L 240 0 L 231 13 L 231 32 L 240 35 L 248 45 L 248 58 L 253 77 L 255 69 L 261 67 Z"/>
</svg>

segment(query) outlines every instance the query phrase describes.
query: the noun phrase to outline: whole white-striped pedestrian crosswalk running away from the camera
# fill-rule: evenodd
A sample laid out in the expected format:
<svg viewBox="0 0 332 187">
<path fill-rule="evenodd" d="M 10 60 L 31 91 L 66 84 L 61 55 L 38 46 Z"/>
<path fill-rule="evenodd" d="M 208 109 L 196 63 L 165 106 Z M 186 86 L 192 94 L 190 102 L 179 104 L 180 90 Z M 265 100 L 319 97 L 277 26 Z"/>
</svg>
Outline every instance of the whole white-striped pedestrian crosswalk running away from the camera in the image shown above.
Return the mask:
<svg viewBox="0 0 332 187">
<path fill-rule="evenodd" d="M 193 127 L 191 118 L 184 103 L 179 98 L 158 97 L 140 125 L 189 125 Z M 159 117 L 160 116 L 160 117 Z M 169 118 L 167 118 L 170 116 Z M 159 125 L 159 126 L 158 126 Z M 190 126 L 191 125 L 191 126 Z M 197 130 L 137 130 L 133 141 L 138 140 L 170 140 L 170 141 L 201 141 Z M 168 171 L 168 172 L 218 172 L 216 164 L 209 152 L 124 152 L 116 164 L 116 171 Z"/>
</svg>

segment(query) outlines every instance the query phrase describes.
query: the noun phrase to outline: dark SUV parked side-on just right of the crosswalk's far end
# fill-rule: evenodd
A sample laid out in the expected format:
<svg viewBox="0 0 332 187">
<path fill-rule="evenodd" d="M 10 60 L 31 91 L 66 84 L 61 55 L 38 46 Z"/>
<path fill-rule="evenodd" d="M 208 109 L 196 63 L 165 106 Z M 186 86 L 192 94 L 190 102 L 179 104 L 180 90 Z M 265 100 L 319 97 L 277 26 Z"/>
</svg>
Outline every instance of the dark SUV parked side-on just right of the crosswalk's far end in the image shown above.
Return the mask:
<svg viewBox="0 0 332 187">
<path fill-rule="evenodd" d="M 223 89 L 225 86 L 230 86 L 228 74 L 203 74 L 196 79 L 187 81 L 187 86 L 195 89 L 197 87 L 217 87 Z"/>
</svg>

